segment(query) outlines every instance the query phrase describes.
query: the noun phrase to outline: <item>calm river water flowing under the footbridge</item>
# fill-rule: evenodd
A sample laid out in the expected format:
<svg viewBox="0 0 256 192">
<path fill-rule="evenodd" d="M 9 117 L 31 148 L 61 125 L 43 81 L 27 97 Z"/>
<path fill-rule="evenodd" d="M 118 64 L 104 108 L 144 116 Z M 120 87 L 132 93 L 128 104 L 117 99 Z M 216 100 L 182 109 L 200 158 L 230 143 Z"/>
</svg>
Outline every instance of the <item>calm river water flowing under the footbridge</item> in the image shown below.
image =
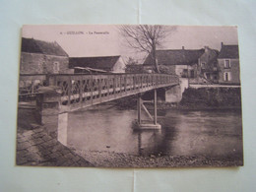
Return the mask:
<svg viewBox="0 0 256 192">
<path fill-rule="evenodd" d="M 68 115 L 76 150 L 149 156 L 242 157 L 240 110 L 159 110 L 160 131 L 134 131 L 137 111 L 104 104 Z M 146 118 L 146 116 L 144 116 Z"/>
</svg>

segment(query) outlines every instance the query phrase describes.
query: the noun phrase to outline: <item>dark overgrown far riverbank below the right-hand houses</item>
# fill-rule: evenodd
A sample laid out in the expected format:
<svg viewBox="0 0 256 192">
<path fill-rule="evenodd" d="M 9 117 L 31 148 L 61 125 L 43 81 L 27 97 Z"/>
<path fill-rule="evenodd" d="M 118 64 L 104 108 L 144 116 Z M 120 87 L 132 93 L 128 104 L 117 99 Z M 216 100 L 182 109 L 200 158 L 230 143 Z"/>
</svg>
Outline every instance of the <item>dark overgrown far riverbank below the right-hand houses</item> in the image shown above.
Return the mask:
<svg viewBox="0 0 256 192">
<path fill-rule="evenodd" d="M 127 96 L 112 101 L 120 109 L 136 109 L 137 96 Z M 152 103 L 146 103 L 153 109 Z M 158 100 L 158 109 L 177 110 L 215 110 L 215 109 L 241 109 L 240 88 L 188 88 L 182 94 L 180 102 L 165 102 Z"/>
</svg>

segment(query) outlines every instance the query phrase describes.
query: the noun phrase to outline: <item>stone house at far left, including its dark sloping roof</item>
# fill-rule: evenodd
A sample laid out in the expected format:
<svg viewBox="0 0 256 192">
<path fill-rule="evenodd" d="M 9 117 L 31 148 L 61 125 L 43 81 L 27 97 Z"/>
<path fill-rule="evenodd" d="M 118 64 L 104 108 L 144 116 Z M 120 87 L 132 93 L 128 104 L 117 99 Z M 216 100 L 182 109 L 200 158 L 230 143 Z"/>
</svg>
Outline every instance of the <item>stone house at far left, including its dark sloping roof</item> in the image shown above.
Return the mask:
<svg viewBox="0 0 256 192">
<path fill-rule="evenodd" d="M 68 54 L 56 42 L 22 38 L 21 74 L 70 73 Z"/>
</svg>

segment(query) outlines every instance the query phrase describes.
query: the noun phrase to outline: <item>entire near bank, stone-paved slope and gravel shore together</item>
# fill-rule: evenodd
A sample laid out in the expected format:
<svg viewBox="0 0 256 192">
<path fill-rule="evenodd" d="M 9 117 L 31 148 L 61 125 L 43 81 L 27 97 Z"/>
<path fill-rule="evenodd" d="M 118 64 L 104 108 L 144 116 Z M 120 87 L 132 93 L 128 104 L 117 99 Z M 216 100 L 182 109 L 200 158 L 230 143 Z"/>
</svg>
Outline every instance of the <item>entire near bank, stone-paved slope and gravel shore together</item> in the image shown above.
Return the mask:
<svg viewBox="0 0 256 192">
<path fill-rule="evenodd" d="M 49 136 L 33 118 L 33 109 L 19 109 L 17 165 L 96 167 L 196 167 L 243 165 L 242 156 L 130 155 L 68 148 Z"/>
</svg>

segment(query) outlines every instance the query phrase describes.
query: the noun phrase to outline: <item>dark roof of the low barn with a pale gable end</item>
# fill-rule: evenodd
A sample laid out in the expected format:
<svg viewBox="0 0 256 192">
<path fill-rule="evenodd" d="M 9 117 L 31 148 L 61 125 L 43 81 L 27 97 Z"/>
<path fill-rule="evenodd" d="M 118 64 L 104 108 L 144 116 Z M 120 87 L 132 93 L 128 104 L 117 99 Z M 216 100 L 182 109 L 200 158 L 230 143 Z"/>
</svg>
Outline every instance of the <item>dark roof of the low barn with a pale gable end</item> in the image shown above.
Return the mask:
<svg viewBox="0 0 256 192">
<path fill-rule="evenodd" d="M 112 70 L 118 56 L 100 56 L 100 57 L 71 57 L 69 58 L 69 67 L 89 67 L 93 69 L 101 69 L 105 71 Z"/>
</svg>

